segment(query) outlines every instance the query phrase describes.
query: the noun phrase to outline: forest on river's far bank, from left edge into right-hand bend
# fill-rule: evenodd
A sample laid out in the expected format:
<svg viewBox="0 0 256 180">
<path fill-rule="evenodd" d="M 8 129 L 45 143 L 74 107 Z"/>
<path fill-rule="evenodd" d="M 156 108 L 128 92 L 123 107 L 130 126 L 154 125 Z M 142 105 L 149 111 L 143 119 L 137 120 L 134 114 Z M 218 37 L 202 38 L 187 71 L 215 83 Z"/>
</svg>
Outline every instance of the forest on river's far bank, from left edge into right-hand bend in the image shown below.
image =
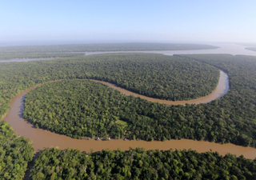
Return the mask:
<svg viewBox="0 0 256 180">
<path fill-rule="evenodd" d="M 160 69 L 158 72 L 154 72 L 156 71 L 154 66 L 149 66 L 150 64 L 156 64 L 158 58 L 162 59 L 161 63 L 170 65 L 166 70 L 166 74 L 161 73 L 161 66 L 156 67 L 156 70 Z M 174 66 L 174 62 L 178 61 L 181 61 L 178 63 L 181 68 L 180 71 L 175 70 Z M 137 68 L 127 70 L 126 66 L 129 65 L 129 62 L 137 66 Z M 146 64 L 148 68 L 144 69 L 142 65 Z M 101 66 L 104 66 L 105 69 L 101 68 Z M 120 67 L 118 68 L 118 66 Z M 193 66 L 194 70 L 190 68 L 191 66 Z M 164 66 L 162 68 L 166 69 Z M 182 68 L 190 71 L 182 70 Z M 113 70 L 122 71 L 122 73 L 126 74 L 126 77 L 122 73 L 115 73 Z M 145 70 L 148 70 L 148 72 L 144 72 Z M 204 76 L 191 74 L 192 72 L 198 74 L 198 71 L 201 71 Z M 139 77 L 143 72 L 147 75 L 145 80 Z M 152 74 L 161 74 L 161 76 L 158 75 L 157 78 L 154 78 Z M 174 77 L 168 79 L 167 77 L 170 74 L 174 74 Z M 142 88 L 142 94 L 146 94 L 144 91 L 147 89 L 147 92 L 154 94 L 154 97 L 161 98 L 164 96 L 168 99 L 183 100 L 188 97 L 202 97 L 205 94 L 210 94 L 211 90 L 214 90 L 217 86 L 219 72 L 216 68 L 196 61 L 190 62 L 184 58 L 172 58 L 162 54 L 101 54 L 36 62 L 2 63 L 0 66 L 0 115 L 6 114 L 6 111 L 10 108 L 10 100 L 15 95 L 42 82 L 74 78 L 94 78 L 113 82 L 113 76 L 119 86 L 130 82 L 135 87 Z M 190 79 L 190 76 L 194 76 L 194 79 Z M 182 78 L 189 78 L 190 81 Z M 170 84 L 169 81 L 173 81 L 173 84 Z M 187 82 L 187 84 L 184 82 Z M 150 85 L 150 83 L 154 83 L 154 86 L 146 86 Z M 141 84 L 146 87 L 141 86 Z M 170 85 L 169 89 L 165 84 Z M 177 92 L 176 89 L 181 91 Z M 136 90 L 140 89 L 134 88 L 134 91 Z M 165 90 L 166 94 L 163 94 L 162 90 Z M 193 90 L 194 93 L 191 94 L 190 90 Z"/>
</svg>

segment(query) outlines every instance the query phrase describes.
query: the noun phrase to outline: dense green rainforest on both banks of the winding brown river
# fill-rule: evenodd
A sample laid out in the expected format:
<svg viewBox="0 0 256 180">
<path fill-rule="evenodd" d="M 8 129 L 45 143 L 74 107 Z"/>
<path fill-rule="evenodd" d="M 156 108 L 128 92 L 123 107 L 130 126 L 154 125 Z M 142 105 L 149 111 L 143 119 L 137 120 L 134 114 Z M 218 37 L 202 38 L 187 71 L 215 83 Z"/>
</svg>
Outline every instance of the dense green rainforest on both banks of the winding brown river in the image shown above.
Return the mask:
<svg viewBox="0 0 256 180">
<path fill-rule="evenodd" d="M 228 54 L 76 54 L 2 63 L 0 114 L 8 112 L 18 93 L 38 85 L 26 94 L 22 111 L 34 128 L 87 139 L 84 141 L 186 138 L 256 147 L 255 68 L 255 57 Z M 229 76 L 227 94 L 198 105 L 167 106 L 94 82 L 110 82 L 151 98 L 178 101 L 210 94 L 218 84 L 220 70 Z M 0 178 L 21 179 L 31 163 L 33 144 L 15 134 L 6 122 L 1 122 L 0 130 Z M 46 148 L 34 163 L 29 175 L 33 179 L 255 178 L 254 160 L 194 150 L 82 153 Z"/>
</svg>

